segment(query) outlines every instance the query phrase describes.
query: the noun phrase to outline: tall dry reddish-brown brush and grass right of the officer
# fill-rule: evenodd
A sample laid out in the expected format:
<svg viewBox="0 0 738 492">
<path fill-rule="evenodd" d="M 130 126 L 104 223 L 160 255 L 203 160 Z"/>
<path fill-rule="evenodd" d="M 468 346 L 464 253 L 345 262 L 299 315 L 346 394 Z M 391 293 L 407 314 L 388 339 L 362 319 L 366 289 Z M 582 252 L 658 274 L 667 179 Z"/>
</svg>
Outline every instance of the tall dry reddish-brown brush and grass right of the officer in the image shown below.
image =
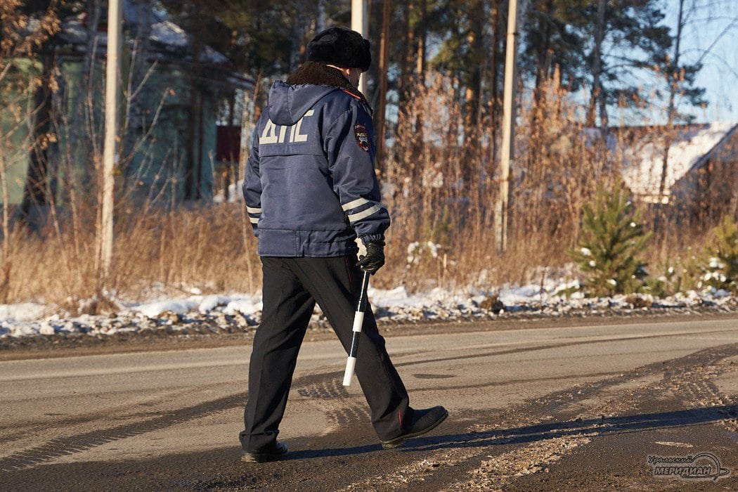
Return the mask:
<svg viewBox="0 0 738 492">
<path fill-rule="evenodd" d="M 556 78 L 531 99 L 520 108 L 510 237 L 500 253 L 492 214 L 499 176 L 489 159 L 489 125 L 465 128 L 460 98 L 443 77 L 416 92 L 382 163 L 394 224 L 388 235 L 391 265 L 375 285 L 494 290 L 570 271 L 566 250 L 579 239 L 582 206 L 593 201 L 599 184 L 615 182 L 623 156 L 613 155 L 583 127 L 584 108 L 568 99 Z M 705 232 L 731 213 L 731 204 L 721 207 L 719 198 L 701 199 L 711 204 L 710 215 L 689 220 L 675 217 L 672 209 L 636 204 L 644 209 L 646 228 L 656 232 L 644 258 L 654 275 L 700 251 Z M 440 245 L 440 253 L 426 250 L 422 260 L 408 265 L 407 246 L 427 241 Z"/>
</svg>

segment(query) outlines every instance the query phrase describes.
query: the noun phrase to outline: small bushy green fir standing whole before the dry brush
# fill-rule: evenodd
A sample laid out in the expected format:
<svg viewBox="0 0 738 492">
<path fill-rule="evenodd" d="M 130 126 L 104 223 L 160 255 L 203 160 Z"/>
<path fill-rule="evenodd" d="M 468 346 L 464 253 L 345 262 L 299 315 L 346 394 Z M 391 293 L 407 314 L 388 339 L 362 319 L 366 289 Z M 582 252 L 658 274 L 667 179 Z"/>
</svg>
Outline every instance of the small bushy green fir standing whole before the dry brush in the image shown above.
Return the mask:
<svg viewBox="0 0 738 492">
<path fill-rule="evenodd" d="M 594 208 L 585 204 L 583 211 L 579 245 L 568 253 L 586 276 L 584 294 L 607 297 L 641 291 L 646 264 L 637 257 L 652 234 L 644 231 L 640 211 L 620 184 L 612 190 L 598 187 Z"/>
</svg>

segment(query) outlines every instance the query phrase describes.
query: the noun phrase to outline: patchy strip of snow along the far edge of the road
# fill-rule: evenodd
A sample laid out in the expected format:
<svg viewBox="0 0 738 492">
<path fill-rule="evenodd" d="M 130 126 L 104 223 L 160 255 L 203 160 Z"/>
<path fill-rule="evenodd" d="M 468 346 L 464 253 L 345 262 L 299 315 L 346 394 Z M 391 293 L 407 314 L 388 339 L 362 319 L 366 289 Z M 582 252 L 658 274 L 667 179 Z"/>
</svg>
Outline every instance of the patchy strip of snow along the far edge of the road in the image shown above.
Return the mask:
<svg viewBox="0 0 738 492">
<path fill-rule="evenodd" d="M 645 296 L 565 298 L 554 292 L 562 285 L 508 286 L 494 293 L 469 289 L 449 292 L 435 289 L 408 294 L 402 288 L 369 289 L 378 322 L 464 321 L 514 316 L 603 316 L 638 313 L 738 312 L 738 298 L 725 291 L 679 294 L 666 299 Z M 162 298 L 155 302 L 119 302 L 120 308 L 104 316 L 64 313 L 58 306 L 24 303 L 0 305 L 0 347 L 13 340 L 53 336 L 238 333 L 253 330 L 261 318 L 261 296 L 193 295 Z M 311 326 L 328 326 L 316 308 Z"/>
</svg>

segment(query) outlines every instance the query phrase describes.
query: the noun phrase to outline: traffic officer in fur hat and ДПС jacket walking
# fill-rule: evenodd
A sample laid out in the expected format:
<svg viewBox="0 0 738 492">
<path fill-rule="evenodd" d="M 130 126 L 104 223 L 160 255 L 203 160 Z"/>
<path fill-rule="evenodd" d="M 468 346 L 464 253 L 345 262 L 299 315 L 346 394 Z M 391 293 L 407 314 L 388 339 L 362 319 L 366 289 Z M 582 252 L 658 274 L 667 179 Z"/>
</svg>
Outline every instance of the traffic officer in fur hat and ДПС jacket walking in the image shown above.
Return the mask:
<svg viewBox="0 0 738 492">
<path fill-rule="evenodd" d="M 315 303 L 348 352 L 362 271 L 384 265 L 390 215 L 374 173 L 370 106 L 357 89 L 371 63 L 369 41 L 331 27 L 308 43 L 307 61 L 277 81 L 254 132 L 244 179 L 258 238 L 263 311 L 249 366 L 242 459 L 279 460 L 287 395 Z M 366 254 L 357 260 L 356 238 Z M 356 377 L 383 448 L 438 426 L 442 406 L 413 409 L 370 308 Z"/>
</svg>

